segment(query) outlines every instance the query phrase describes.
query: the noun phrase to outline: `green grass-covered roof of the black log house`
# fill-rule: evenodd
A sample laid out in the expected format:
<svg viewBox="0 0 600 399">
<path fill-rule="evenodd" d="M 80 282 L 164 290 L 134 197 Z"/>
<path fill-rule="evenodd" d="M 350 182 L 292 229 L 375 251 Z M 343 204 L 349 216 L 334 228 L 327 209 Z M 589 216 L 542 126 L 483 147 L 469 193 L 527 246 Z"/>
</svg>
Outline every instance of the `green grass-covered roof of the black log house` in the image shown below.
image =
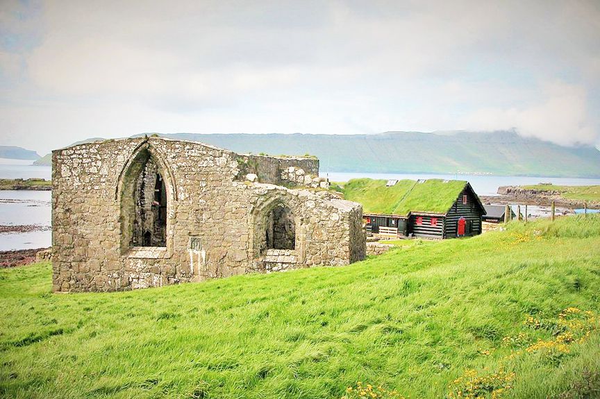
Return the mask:
<svg viewBox="0 0 600 399">
<path fill-rule="evenodd" d="M 363 212 L 407 215 L 409 212 L 445 214 L 458 198 L 465 180 L 428 179 L 424 182 L 399 180 L 385 187 L 387 180 L 352 179 L 344 185 L 349 201 L 363 204 Z"/>
</svg>

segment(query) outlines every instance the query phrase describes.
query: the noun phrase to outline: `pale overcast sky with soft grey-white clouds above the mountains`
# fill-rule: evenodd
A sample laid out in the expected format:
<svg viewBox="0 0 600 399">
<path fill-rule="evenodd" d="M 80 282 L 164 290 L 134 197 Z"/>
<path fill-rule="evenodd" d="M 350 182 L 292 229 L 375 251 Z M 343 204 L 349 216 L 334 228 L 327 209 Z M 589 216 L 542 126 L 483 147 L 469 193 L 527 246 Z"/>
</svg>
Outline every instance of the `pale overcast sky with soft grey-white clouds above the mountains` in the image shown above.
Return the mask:
<svg viewBox="0 0 600 399">
<path fill-rule="evenodd" d="M 0 144 L 515 128 L 600 144 L 600 1 L 0 0 Z"/>
</svg>

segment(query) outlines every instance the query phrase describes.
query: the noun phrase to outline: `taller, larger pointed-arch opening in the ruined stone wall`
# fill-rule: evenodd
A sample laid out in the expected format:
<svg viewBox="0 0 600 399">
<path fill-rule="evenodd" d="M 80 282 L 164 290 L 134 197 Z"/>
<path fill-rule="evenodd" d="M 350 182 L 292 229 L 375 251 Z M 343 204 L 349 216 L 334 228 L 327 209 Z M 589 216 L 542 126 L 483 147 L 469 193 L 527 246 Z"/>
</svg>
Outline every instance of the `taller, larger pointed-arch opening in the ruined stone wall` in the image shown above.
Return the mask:
<svg viewBox="0 0 600 399">
<path fill-rule="evenodd" d="M 165 173 L 148 148 L 131 160 L 122 180 L 122 248 L 167 246 Z"/>
</svg>

